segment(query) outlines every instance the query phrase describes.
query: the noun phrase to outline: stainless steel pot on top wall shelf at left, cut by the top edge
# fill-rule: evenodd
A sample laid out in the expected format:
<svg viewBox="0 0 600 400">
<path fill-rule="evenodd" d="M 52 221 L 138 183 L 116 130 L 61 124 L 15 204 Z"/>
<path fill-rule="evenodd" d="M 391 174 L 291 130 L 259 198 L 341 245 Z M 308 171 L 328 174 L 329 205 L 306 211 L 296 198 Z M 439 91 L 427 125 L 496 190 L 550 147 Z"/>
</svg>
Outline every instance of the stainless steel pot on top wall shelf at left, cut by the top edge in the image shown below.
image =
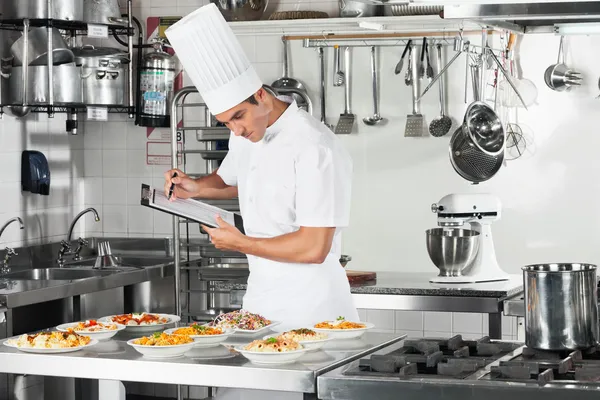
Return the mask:
<svg viewBox="0 0 600 400">
<path fill-rule="evenodd" d="M 50 10 L 48 10 L 48 0 L 2 0 L 0 3 L 3 19 L 83 20 L 81 0 L 52 0 Z"/>
</svg>

